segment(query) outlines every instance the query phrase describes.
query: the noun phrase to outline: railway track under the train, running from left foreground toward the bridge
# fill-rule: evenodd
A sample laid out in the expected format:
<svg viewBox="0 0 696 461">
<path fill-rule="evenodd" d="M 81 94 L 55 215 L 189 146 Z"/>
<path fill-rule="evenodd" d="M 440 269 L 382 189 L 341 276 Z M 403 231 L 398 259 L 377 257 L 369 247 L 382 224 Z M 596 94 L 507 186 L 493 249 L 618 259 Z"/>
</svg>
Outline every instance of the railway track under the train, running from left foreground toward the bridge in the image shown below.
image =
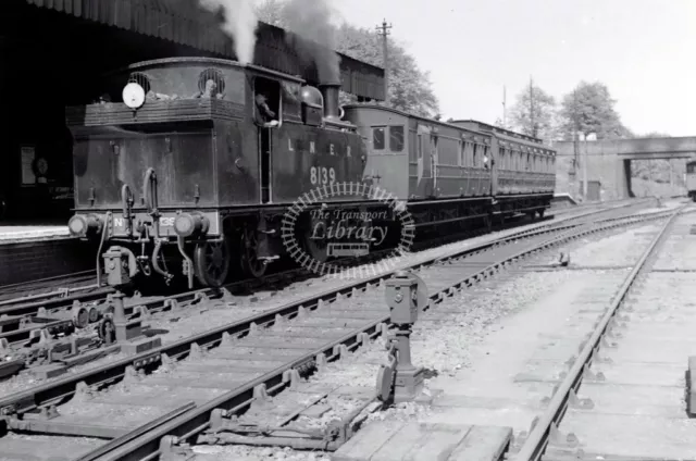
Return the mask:
<svg viewBox="0 0 696 461">
<path fill-rule="evenodd" d="M 618 209 L 625 212 L 635 207 L 642 207 L 644 203 L 622 204 Z M 617 208 L 609 210 L 589 211 L 581 214 L 572 215 L 561 222 L 537 223 L 531 228 L 512 232 L 506 238 L 513 240 L 523 237 L 529 233 L 535 233 L 539 229 L 570 228 L 579 225 L 589 216 L 600 216 L 602 213 L 613 212 L 617 214 Z M 600 222 L 616 220 L 618 217 L 605 219 Z M 511 224 L 508 223 L 508 226 Z M 512 223 L 513 225 L 513 223 Z M 448 236 L 447 239 L 456 239 L 458 236 Z M 446 240 L 438 241 L 440 245 Z M 424 245 L 433 245 L 434 241 L 424 242 Z M 387 251 L 388 252 L 388 251 Z M 372 253 L 369 260 L 375 261 L 383 257 L 381 253 Z M 364 261 L 365 259 L 363 259 Z M 353 261 L 347 261 L 348 263 Z M 277 272 L 269 275 L 263 281 L 253 281 L 256 284 L 284 284 L 290 282 L 297 283 L 301 279 L 313 277 L 304 270 L 290 270 Z M 172 316 L 194 304 L 201 306 L 209 299 L 229 299 L 228 292 L 237 292 L 238 288 L 248 289 L 247 282 L 237 282 L 227 285 L 224 290 L 201 289 L 192 291 L 184 291 L 173 296 L 150 297 L 150 298 L 130 298 L 125 302 L 125 314 L 128 317 L 140 316 L 150 317 L 152 314 L 165 312 Z M 259 286 L 259 285 L 257 285 Z M 0 377 L 7 377 L 16 374 L 24 367 L 30 367 L 33 374 L 39 378 L 48 378 L 65 373 L 69 369 L 83 365 L 87 362 L 100 359 L 105 353 L 119 353 L 121 349 L 116 346 L 109 346 L 111 339 L 107 337 L 105 329 L 110 327 L 110 320 L 104 314 L 113 313 L 113 303 L 108 294 L 105 300 L 83 304 L 74 301 L 72 309 L 55 309 L 47 314 L 45 308 L 30 316 L 9 315 L 0 320 L 0 345 L 5 350 L 5 356 L 10 359 L 0 366 Z M 22 312 L 34 312 L 38 304 L 15 307 L 23 310 Z M 10 309 L 5 308 L 0 313 L 8 314 Z M 17 312 L 16 310 L 14 311 Z M 99 323 L 98 323 L 99 322 Z M 104 324 L 104 322 L 107 322 Z M 37 340 L 40 338 L 40 340 Z M 28 346 L 28 347 L 27 347 Z M 104 347 L 105 346 L 105 347 Z M 48 351 L 51 353 L 48 353 Z M 104 352 L 107 350 L 108 352 Z"/>
</svg>

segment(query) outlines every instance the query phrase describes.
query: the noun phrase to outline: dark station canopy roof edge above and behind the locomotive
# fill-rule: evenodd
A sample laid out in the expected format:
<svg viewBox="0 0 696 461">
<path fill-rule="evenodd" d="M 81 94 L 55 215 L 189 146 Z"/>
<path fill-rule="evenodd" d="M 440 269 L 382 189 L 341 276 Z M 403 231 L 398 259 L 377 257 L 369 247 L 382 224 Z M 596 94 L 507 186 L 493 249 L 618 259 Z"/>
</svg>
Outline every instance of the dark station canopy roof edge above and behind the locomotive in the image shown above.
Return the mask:
<svg viewBox="0 0 696 461">
<path fill-rule="evenodd" d="M 25 0 L 27 3 L 100 24 L 171 40 L 235 59 L 232 39 L 220 18 L 198 7 L 198 0 Z M 316 70 L 302 68 L 282 28 L 259 23 L 254 64 L 318 83 Z M 343 90 L 384 100 L 384 70 L 346 54 L 340 57 Z"/>
</svg>

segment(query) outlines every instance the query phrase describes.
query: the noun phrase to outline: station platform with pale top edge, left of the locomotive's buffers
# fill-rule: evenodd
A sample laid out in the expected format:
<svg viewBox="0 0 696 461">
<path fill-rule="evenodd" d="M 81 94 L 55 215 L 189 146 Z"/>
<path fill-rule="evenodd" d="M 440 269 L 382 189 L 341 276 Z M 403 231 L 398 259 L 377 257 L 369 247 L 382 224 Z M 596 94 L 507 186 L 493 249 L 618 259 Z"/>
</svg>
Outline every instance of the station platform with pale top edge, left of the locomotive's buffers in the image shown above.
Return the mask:
<svg viewBox="0 0 696 461">
<path fill-rule="evenodd" d="M 66 225 L 0 225 L 0 288 L 95 267 L 96 248 L 72 237 Z"/>
</svg>

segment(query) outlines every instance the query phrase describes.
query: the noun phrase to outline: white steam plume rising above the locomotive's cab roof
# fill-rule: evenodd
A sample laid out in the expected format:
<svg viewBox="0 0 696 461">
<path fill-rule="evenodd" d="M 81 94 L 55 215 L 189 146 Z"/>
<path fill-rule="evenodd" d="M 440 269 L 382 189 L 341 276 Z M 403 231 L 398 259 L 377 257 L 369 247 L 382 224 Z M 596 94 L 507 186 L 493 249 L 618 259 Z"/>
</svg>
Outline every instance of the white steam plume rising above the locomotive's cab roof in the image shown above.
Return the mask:
<svg viewBox="0 0 696 461">
<path fill-rule="evenodd" d="M 206 10 L 224 16 L 222 29 L 235 41 L 235 54 L 243 64 L 253 62 L 259 18 L 253 9 L 253 0 L 199 0 Z"/>
</svg>

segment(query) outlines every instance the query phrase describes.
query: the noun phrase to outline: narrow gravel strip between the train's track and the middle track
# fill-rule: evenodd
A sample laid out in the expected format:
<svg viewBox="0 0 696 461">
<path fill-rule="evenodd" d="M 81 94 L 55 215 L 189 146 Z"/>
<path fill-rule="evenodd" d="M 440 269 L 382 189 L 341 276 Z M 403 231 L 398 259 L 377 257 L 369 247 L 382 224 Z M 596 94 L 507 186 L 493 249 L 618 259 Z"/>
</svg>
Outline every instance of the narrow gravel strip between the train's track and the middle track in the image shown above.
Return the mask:
<svg viewBox="0 0 696 461">
<path fill-rule="evenodd" d="M 582 210 L 579 210 L 579 213 L 582 212 Z M 574 213 L 569 214 L 574 215 Z M 549 221 L 543 224 L 552 222 L 554 221 Z M 540 224 L 532 224 L 530 226 L 496 232 L 461 242 L 448 244 L 442 247 L 413 252 L 405 257 L 400 257 L 395 264 L 386 264 L 386 270 L 390 270 L 394 265 L 397 267 L 406 267 L 427 259 L 444 257 L 456 250 L 471 248 L 475 245 L 501 238 L 525 228 L 534 228 L 539 225 Z M 370 273 L 385 272 L 384 269 L 381 270 L 380 266 L 376 266 L 375 264 L 364 264 L 360 267 Z M 384 267 L 384 265 L 382 267 Z M 345 283 L 346 281 L 337 277 L 324 276 L 311 281 L 298 282 L 278 291 L 259 291 L 252 296 L 245 297 L 226 296 L 223 299 L 210 300 L 206 303 L 201 303 L 200 306 L 156 313 L 144 324 L 152 329 L 162 332 L 159 336 L 162 339 L 162 344 L 166 345 L 227 323 L 240 321 L 263 311 L 276 309 L 285 303 L 326 291 L 331 288 L 341 286 Z M 125 354 L 121 353 L 109 356 L 85 365 L 75 366 L 71 369 L 69 373 L 77 374 L 86 370 L 101 366 L 105 363 L 113 363 L 124 359 L 125 357 Z M 13 376 L 10 379 L 0 382 L 0 396 L 7 396 L 32 386 L 50 383 L 60 378 L 61 377 L 58 376 L 51 379 L 38 379 L 28 373 L 23 373 Z"/>
</svg>

